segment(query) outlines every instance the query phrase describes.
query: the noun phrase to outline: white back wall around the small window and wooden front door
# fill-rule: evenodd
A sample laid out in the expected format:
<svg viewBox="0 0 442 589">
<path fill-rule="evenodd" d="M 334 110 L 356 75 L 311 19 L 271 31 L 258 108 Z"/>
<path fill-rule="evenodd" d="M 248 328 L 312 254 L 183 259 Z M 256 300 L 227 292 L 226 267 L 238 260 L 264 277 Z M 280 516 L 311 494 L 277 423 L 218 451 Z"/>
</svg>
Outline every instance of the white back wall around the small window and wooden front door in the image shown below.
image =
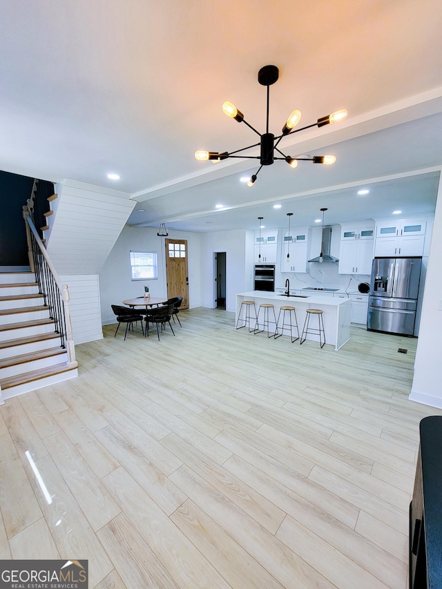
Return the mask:
<svg viewBox="0 0 442 589">
<path fill-rule="evenodd" d="M 169 239 L 187 240 L 189 263 L 189 305 L 201 306 L 201 234 L 169 230 Z M 149 280 L 148 287 L 153 297 L 167 298 L 166 261 L 164 238 L 151 227 L 124 226 L 115 246 L 99 272 L 99 294 L 102 307 L 102 324 L 115 323 L 111 305 L 121 305 L 127 298 L 142 296 L 146 280 L 131 280 L 130 251 L 156 251 L 158 257 L 158 280 Z"/>
</svg>

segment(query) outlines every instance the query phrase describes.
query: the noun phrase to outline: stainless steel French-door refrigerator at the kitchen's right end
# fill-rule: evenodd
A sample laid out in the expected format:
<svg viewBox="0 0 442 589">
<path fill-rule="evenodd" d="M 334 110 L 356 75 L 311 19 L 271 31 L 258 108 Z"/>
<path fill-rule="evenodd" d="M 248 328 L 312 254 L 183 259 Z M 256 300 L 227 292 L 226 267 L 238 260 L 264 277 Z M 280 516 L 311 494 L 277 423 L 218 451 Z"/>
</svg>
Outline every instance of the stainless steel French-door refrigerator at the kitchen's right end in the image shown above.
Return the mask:
<svg viewBox="0 0 442 589">
<path fill-rule="evenodd" d="M 412 336 L 422 258 L 374 258 L 367 329 Z"/>
</svg>

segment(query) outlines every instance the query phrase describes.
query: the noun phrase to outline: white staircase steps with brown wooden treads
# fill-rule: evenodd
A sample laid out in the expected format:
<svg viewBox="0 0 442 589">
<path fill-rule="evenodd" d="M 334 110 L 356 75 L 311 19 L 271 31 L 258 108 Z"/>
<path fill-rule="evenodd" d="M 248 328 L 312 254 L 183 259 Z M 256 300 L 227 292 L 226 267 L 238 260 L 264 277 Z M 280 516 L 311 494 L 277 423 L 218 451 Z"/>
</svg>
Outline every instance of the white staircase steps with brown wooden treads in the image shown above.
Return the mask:
<svg viewBox="0 0 442 589">
<path fill-rule="evenodd" d="M 0 273 L 0 403 L 77 376 L 31 272 Z"/>
</svg>

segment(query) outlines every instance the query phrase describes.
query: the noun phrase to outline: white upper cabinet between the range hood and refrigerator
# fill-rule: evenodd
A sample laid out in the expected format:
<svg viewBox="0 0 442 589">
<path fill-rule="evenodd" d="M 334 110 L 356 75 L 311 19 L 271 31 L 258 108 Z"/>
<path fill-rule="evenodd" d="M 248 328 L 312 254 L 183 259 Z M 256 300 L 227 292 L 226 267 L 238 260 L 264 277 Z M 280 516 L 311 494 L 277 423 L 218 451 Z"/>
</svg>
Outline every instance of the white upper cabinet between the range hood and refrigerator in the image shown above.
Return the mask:
<svg viewBox="0 0 442 589">
<path fill-rule="evenodd" d="M 370 274 L 374 251 L 374 225 L 342 224 L 339 274 Z"/>
</svg>

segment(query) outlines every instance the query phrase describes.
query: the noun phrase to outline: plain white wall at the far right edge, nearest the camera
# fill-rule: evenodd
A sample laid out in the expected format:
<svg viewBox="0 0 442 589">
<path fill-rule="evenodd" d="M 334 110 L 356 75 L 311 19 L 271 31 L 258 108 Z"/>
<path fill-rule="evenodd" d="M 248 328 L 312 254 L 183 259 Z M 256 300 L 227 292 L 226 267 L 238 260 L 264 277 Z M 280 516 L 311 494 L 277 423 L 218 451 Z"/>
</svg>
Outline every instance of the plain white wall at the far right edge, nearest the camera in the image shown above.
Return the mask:
<svg viewBox="0 0 442 589">
<path fill-rule="evenodd" d="M 442 408 L 442 182 L 434 214 L 411 400 Z"/>
</svg>

